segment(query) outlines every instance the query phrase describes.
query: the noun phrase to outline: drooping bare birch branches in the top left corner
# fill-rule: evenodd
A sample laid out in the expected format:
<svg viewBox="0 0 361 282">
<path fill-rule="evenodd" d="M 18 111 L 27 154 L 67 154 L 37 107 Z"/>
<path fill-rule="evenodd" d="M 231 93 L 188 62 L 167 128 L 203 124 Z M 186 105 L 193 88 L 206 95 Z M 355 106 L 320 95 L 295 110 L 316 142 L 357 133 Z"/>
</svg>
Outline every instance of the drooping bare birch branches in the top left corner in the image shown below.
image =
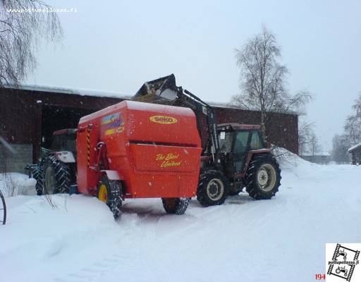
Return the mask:
<svg viewBox="0 0 361 282">
<path fill-rule="evenodd" d="M 61 39 L 56 13 L 33 11 L 49 7 L 40 0 L 0 0 L 0 87 L 19 85 L 34 70 L 40 42 Z"/>
</svg>

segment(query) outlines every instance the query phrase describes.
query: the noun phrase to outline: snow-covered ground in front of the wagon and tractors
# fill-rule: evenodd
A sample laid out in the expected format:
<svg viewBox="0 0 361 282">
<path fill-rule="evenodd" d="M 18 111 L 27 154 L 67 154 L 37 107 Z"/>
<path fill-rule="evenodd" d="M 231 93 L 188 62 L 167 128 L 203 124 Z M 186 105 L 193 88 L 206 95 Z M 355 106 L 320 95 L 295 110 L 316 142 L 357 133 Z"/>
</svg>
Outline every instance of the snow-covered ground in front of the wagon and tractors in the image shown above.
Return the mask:
<svg viewBox="0 0 361 282">
<path fill-rule="evenodd" d="M 84 195 L 7 197 L 0 281 L 315 281 L 325 243 L 361 242 L 361 166 L 293 156 L 272 200 L 247 193 L 182 216 L 132 200 L 114 221 Z"/>
</svg>

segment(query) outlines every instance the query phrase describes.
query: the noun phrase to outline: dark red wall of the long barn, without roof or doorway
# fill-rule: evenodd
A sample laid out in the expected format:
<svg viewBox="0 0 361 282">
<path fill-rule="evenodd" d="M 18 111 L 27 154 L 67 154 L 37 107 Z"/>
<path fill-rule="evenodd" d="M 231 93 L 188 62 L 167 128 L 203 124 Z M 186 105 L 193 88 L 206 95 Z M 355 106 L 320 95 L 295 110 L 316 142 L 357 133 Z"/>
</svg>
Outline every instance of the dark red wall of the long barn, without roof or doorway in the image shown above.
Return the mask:
<svg viewBox="0 0 361 282">
<path fill-rule="evenodd" d="M 42 141 L 42 114 L 45 107 L 58 106 L 92 112 L 121 101 L 123 101 L 121 98 L 2 88 L 0 89 L 0 135 L 11 144 L 32 145 L 32 161 L 36 161 Z M 217 123 L 260 123 L 260 113 L 257 111 L 221 107 L 215 107 L 214 111 Z M 266 126 L 269 142 L 298 154 L 297 115 L 271 113 Z"/>
</svg>

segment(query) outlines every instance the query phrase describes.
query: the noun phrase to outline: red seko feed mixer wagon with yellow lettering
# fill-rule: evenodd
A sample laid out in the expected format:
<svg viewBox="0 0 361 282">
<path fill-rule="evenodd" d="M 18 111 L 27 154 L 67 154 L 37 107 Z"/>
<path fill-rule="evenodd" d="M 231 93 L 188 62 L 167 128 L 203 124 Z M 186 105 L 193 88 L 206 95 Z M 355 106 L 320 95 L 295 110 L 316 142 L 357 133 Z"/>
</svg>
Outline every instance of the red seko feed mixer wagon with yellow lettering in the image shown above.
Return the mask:
<svg viewBox="0 0 361 282">
<path fill-rule="evenodd" d="M 126 198 L 160 197 L 183 214 L 197 194 L 202 146 L 191 109 L 124 101 L 80 119 L 78 191 L 118 217 Z"/>
</svg>

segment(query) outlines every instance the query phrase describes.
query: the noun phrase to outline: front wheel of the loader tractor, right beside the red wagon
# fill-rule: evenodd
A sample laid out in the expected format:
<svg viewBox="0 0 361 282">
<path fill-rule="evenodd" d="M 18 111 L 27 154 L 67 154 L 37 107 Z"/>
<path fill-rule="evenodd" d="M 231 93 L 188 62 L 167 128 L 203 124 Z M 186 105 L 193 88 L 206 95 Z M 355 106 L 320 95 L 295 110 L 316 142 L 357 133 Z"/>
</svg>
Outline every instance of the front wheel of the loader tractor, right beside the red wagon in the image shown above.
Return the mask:
<svg viewBox="0 0 361 282">
<path fill-rule="evenodd" d="M 198 181 L 197 200 L 204 207 L 223 204 L 228 197 L 229 181 L 216 170 L 203 171 Z"/>
</svg>

